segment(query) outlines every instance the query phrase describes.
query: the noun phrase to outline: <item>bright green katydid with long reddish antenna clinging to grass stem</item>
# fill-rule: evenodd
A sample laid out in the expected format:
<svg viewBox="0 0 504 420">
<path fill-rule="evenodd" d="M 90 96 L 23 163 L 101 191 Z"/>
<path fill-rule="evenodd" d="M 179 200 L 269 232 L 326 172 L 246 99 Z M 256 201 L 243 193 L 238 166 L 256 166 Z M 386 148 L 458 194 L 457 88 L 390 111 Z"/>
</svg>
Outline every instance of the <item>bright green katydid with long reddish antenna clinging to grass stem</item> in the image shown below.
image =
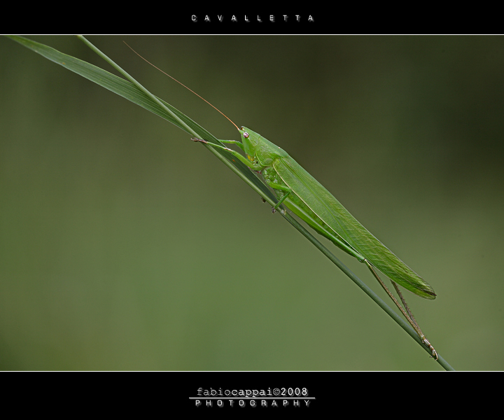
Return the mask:
<svg viewBox="0 0 504 420">
<path fill-rule="evenodd" d="M 137 53 L 136 51 L 134 52 Z M 137 53 L 137 55 L 139 54 Z M 144 57 L 141 58 L 144 59 Z M 154 64 L 150 62 L 148 63 L 154 66 Z M 158 69 L 158 67 L 154 67 Z M 162 73 L 165 72 L 162 71 Z M 183 85 L 179 80 L 176 80 L 167 73 L 165 74 L 177 83 Z M 183 85 L 183 87 L 190 90 L 186 85 Z M 190 92 L 193 92 L 193 90 L 190 90 Z M 193 93 L 200 97 L 196 92 Z M 216 109 L 216 107 L 210 104 L 206 99 L 200 98 Z M 216 110 L 225 116 L 224 113 L 218 109 Z M 225 118 L 228 117 L 225 116 Z M 228 118 L 228 120 L 230 120 L 230 118 Z M 321 183 L 318 183 L 318 181 L 293 160 L 286 151 L 283 151 L 279 146 L 276 146 L 271 141 L 253 132 L 249 128 L 241 127 L 240 129 L 232 120 L 230 120 L 230 122 L 235 125 L 239 131 L 241 141 L 220 141 L 225 144 L 235 144 L 239 146 L 246 154 L 246 157 L 225 146 L 214 143 L 211 143 L 211 146 L 222 148 L 232 153 L 232 155 L 243 162 L 244 165 L 262 175 L 262 179 L 264 179 L 267 186 L 272 188 L 279 200 L 272 208 L 273 212 L 279 209 L 281 204 L 285 204 L 290 211 L 316 230 L 316 232 L 332 241 L 346 253 L 357 258 L 359 262 L 363 262 L 367 265 L 373 276 L 379 281 L 409 324 L 412 325 L 421 338 L 421 341 L 428 346 L 432 353 L 430 357 L 435 357 L 435 360 L 437 360 L 437 352 L 430 342 L 428 342 L 425 335 L 423 335 L 398 285 L 420 297 L 430 300 L 435 299 L 436 296 L 433 288 L 364 228 L 364 226 L 361 225 L 356 218 L 354 218 L 349 211 L 347 211 L 342 204 L 321 185 Z M 193 138 L 192 140 L 208 143 L 208 141 L 204 139 Z M 385 286 L 384 282 L 377 274 L 376 269 L 379 269 L 391 279 L 404 308 L 401 307 L 398 300 L 395 299 L 390 290 Z"/>
</svg>

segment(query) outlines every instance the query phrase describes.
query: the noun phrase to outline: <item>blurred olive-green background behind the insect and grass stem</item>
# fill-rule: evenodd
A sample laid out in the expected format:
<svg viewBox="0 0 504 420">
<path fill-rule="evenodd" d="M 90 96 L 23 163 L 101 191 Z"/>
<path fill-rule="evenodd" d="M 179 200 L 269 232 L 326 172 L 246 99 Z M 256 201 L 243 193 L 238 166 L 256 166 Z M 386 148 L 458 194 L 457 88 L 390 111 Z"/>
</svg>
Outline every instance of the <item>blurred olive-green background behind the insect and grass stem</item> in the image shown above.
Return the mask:
<svg viewBox="0 0 504 420">
<path fill-rule="evenodd" d="M 433 286 L 406 298 L 440 355 L 504 369 L 503 37 L 87 38 L 216 137 L 123 40 L 288 151 Z M 3 370 L 442 370 L 186 133 L 7 38 L 0 299 Z"/>
</svg>

